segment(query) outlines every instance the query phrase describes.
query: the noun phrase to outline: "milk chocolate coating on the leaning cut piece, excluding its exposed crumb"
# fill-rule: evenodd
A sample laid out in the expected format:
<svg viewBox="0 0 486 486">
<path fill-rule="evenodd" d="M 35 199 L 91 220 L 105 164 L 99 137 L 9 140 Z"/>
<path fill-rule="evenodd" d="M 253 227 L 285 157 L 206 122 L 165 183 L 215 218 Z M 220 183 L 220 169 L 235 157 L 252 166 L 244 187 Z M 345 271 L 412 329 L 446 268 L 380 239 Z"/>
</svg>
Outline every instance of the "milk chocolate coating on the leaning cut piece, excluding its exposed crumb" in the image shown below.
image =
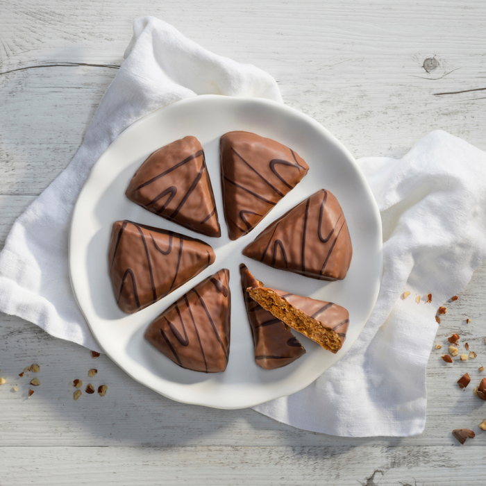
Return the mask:
<svg viewBox="0 0 486 486">
<path fill-rule="evenodd" d="M 269 287 L 262 288 L 272 290 L 294 308 L 312 317 L 325 328 L 333 330 L 340 337 L 342 346 L 346 340 L 346 333 L 349 327 L 349 312 L 344 307 L 333 302 L 318 301 L 310 297 L 290 294 L 284 290 L 270 289 Z M 337 351 L 330 351 L 337 353 Z"/>
</svg>

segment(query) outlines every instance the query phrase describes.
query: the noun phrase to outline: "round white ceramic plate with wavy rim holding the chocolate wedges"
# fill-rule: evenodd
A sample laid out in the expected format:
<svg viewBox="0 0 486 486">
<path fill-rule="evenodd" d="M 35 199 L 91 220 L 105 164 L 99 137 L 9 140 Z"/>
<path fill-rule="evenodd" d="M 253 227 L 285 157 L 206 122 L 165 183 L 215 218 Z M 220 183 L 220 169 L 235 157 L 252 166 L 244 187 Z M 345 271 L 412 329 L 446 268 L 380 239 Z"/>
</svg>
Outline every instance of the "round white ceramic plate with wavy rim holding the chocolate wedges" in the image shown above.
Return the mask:
<svg viewBox="0 0 486 486">
<path fill-rule="evenodd" d="M 310 170 L 294 190 L 248 235 L 229 240 L 221 200 L 219 137 L 244 130 L 290 146 Z M 161 146 L 185 135 L 199 139 L 206 152 L 215 191 L 222 237 L 193 233 L 129 201 L 124 192 L 139 165 Z M 328 189 L 340 201 L 353 243 L 346 278 L 323 283 L 242 256 L 246 244 L 315 191 Z M 119 310 L 108 274 L 112 223 L 129 219 L 166 228 L 208 242 L 216 261 L 193 280 L 133 315 Z M 286 367 L 267 371 L 255 364 L 251 331 L 240 286 L 239 265 L 270 287 L 333 301 L 349 310 L 349 331 L 337 353 L 325 351 L 299 335 L 307 353 Z M 203 278 L 230 270 L 231 353 L 224 373 L 182 369 L 144 340 L 149 323 Z M 205 95 L 178 101 L 137 121 L 121 133 L 94 165 L 79 195 L 69 235 L 69 270 L 74 295 L 94 337 L 106 354 L 135 380 L 170 399 L 215 408 L 246 408 L 303 389 L 351 348 L 378 296 L 382 236 L 378 208 L 351 153 L 317 121 L 288 106 L 264 99 Z"/>
</svg>

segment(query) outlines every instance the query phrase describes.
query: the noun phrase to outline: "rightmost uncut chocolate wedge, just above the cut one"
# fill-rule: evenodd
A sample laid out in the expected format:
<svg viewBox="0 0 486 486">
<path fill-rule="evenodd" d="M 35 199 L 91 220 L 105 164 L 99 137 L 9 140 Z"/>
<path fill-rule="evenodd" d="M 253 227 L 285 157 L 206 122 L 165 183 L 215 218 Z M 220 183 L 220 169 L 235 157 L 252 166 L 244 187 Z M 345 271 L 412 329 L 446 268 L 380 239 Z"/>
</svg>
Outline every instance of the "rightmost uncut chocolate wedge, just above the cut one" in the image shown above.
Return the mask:
<svg viewBox="0 0 486 486">
<path fill-rule="evenodd" d="M 243 254 L 307 277 L 342 280 L 353 246 L 340 203 L 321 189 L 276 219 Z"/>
</svg>

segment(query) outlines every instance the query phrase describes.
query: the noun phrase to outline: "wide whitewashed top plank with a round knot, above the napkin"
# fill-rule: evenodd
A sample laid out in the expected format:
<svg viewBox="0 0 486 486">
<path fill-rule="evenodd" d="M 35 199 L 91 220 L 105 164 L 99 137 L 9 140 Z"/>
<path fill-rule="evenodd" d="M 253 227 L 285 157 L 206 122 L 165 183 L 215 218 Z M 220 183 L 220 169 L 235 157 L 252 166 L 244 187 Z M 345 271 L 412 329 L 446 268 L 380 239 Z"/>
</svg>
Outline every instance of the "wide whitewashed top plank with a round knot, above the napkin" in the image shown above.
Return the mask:
<svg viewBox="0 0 486 486">
<path fill-rule="evenodd" d="M 103 65 L 121 63 L 131 21 L 145 12 L 266 69 L 290 106 L 321 121 L 357 157 L 401 156 L 433 128 L 486 149 L 486 95 L 471 91 L 486 87 L 483 3 L 305 0 L 262 9 L 257 1 L 162 8 L 152 0 L 123 7 L 67 0 L 62 8 L 29 1 L 1 8 L 0 72 L 8 74 L 0 75 L 0 194 L 38 194 L 67 165 L 116 74 Z M 427 58 L 437 60 L 433 71 L 423 67 Z M 445 92 L 461 93 L 437 96 Z"/>
</svg>

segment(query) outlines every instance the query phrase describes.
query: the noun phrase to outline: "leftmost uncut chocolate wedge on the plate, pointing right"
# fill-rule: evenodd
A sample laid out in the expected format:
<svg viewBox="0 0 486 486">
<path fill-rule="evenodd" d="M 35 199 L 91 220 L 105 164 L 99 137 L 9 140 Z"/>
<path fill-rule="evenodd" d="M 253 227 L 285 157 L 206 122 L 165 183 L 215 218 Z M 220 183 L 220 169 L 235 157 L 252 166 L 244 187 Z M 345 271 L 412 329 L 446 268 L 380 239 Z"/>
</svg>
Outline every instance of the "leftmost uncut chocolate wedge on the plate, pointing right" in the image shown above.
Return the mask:
<svg viewBox="0 0 486 486">
<path fill-rule="evenodd" d="M 110 277 L 127 314 L 162 299 L 214 261 L 215 252 L 201 240 L 131 221 L 112 226 Z"/>
</svg>

